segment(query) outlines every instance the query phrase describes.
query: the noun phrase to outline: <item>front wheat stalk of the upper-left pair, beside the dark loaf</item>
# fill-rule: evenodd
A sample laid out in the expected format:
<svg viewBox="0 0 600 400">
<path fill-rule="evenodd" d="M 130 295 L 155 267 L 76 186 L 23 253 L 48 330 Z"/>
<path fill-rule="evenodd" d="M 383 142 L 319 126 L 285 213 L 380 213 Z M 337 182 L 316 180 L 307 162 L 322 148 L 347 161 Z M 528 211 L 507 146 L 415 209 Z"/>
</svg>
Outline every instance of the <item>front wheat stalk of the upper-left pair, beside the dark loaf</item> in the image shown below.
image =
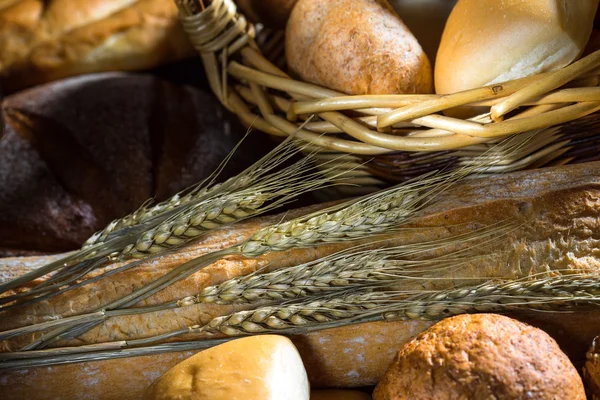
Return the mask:
<svg viewBox="0 0 600 400">
<path fill-rule="evenodd" d="M 66 259 L 59 260 L 0 285 L 0 291 L 9 290 L 43 276 L 52 270 L 58 270 L 53 277 L 33 289 L 0 298 L 0 304 L 10 303 L 33 295 L 41 294 L 43 296 L 30 299 L 26 303 L 5 306 L 2 309 L 31 304 L 70 290 L 71 288 L 66 286 L 85 275 L 74 274 L 73 272 L 81 269 L 87 263 L 92 262 L 92 265 L 96 268 L 106 262 L 104 257 L 107 256 L 112 260 L 127 258 L 127 256 L 142 258 L 177 248 L 211 229 L 259 215 L 285 204 L 304 192 L 325 187 L 333 179 L 343 180 L 341 175 L 344 172 L 335 173 L 331 171 L 333 168 L 318 172 L 312 164 L 314 154 L 308 154 L 291 166 L 276 171 L 278 167 L 302 150 L 303 147 L 295 140 L 288 139 L 245 172 L 230 179 L 229 183 L 214 185 L 211 190 L 201 191 L 202 196 L 198 195 L 200 193 L 199 189 L 194 190 L 191 199 L 180 207 L 182 211 L 175 213 L 175 209 L 167 210 L 164 213 L 165 215 L 161 215 L 160 219 L 149 221 L 158 224 L 158 226 L 143 232 L 141 238 L 136 240 L 136 234 L 130 232 L 126 237 L 116 237 L 109 242 L 98 243 L 82 250 L 79 254 L 83 255 L 83 261 L 70 263 L 66 262 Z M 327 177 L 327 174 L 332 176 Z M 243 189 L 240 189 L 242 187 Z M 221 191 L 219 192 L 215 188 L 220 188 Z M 215 191 L 218 192 L 218 195 L 215 194 L 212 197 L 205 198 L 207 194 L 214 194 Z M 161 223 L 161 221 L 165 222 Z M 148 226 L 149 222 L 137 228 Z M 132 241 L 133 243 L 131 243 Z M 111 243 L 115 245 L 111 246 Z M 119 248 L 122 250 L 118 250 Z M 96 249 L 101 249 L 100 254 Z M 115 250 L 117 251 L 115 252 Z M 94 256 L 96 257 L 86 259 Z M 69 257 L 69 260 L 76 259 L 76 255 Z M 98 260 L 100 261 L 97 262 Z M 135 265 L 132 264 L 127 268 L 133 266 Z M 86 270 L 86 273 L 94 268 Z M 77 286 L 82 285 L 78 284 Z"/>
</svg>

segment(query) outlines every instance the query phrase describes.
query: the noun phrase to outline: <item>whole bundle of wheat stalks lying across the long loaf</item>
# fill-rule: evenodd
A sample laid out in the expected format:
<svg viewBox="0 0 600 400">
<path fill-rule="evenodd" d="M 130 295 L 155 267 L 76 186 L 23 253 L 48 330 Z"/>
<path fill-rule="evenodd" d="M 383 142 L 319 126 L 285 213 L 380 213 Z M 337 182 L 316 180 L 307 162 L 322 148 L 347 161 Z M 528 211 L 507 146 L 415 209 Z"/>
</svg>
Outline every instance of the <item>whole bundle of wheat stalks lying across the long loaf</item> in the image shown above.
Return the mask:
<svg viewBox="0 0 600 400">
<path fill-rule="evenodd" d="M 448 315 L 509 309 L 570 309 L 600 302 L 593 271 L 532 266 L 512 274 L 503 247 L 505 236 L 522 222 L 496 221 L 439 240 L 394 245 L 388 235 L 410 230 L 408 223 L 460 180 L 494 171 L 498 160 L 518 156 L 536 137 L 518 135 L 452 171 L 428 173 L 392 188 L 351 199 L 307 216 L 256 231 L 240 243 L 185 262 L 128 295 L 92 312 L 57 315 L 52 320 L 0 332 L 0 341 L 43 332 L 20 351 L 0 353 L 0 370 L 85 360 L 202 349 L 228 338 L 277 332 L 291 335 L 366 321 L 440 319 Z M 333 182 L 350 181 L 352 171 L 335 173 L 313 164 L 313 154 L 294 138 L 240 175 L 215 184 L 222 167 L 207 181 L 171 199 L 144 204 L 110 223 L 65 258 L 0 285 L 0 313 L 31 305 L 110 275 L 141 261 L 174 252 L 226 224 L 274 210 L 296 196 Z M 230 157 L 233 156 L 230 155 Z M 224 163 L 227 160 L 224 161 Z M 223 164 L 224 165 L 224 164 Z M 319 243 L 355 243 L 318 259 L 271 271 L 264 268 L 199 290 L 192 296 L 146 307 L 140 301 L 231 256 L 255 258 L 267 252 L 309 248 Z M 494 268 L 472 275 L 482 257 Z M 131 260 L 118 267 L 110 261 Z M 108 266 L 107 266 L 108 264 Z M 103 267 L 103 272 L 88 276 Z M 46 277 L 42 283 L 36 279 Z M 502 279 L 501 279 L 502 278 Z M 71 347 L 76 338 L 114 317 L 185 308 L 196 304 L 239 305 L 242 310 L 150 337 Z M 189 333 L 194 342 L 162 343 Z"/>
</svg>

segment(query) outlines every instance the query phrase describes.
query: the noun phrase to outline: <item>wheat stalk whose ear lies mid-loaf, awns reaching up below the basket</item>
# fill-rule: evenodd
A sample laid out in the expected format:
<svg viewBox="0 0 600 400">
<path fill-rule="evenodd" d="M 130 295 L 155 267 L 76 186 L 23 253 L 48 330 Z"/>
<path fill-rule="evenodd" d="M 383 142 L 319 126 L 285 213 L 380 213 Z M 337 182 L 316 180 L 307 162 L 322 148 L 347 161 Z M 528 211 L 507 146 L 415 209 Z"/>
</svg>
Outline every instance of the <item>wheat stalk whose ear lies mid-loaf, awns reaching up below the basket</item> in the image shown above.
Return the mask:
<svg viewBox="0 0 600 400">
<path fill-rule="evenodd" d="M 494 154 L 502 153 L 510 156 L 524 144 L 525 142 L 520 138 L 513 137 L 494 146 L 490 151 Z M 268 251 L 309 247 L 325 242 L 352 241 L 384 233 L 409 221 L 410 217 L 418 210 L 423 209 L 457 181 L 475 170 L 485 170 L 486 166 L 493 166 L 496 163 L 495 157 L 490 160 L 488 153 L 484 153 L 472 164 L 460 169 L 445 173 L 432 172 L 414 181 L 351 200 L 306 217 L 260 229 L 244 243 L 188 261 L 143 288 L 107 304 L 103 309 L 115 310 L 131 307 L 228 255 L 257 257 Z M 95 325 L 97 323 L 89 323 L 72 330 L 79 335 Z M 24 349 L 31 350 L 53 343 L 60 338 L 71 337 L 73 334 L 69 334 L 68 329 L 59 329 L 50 332 Z"/>
</svg>

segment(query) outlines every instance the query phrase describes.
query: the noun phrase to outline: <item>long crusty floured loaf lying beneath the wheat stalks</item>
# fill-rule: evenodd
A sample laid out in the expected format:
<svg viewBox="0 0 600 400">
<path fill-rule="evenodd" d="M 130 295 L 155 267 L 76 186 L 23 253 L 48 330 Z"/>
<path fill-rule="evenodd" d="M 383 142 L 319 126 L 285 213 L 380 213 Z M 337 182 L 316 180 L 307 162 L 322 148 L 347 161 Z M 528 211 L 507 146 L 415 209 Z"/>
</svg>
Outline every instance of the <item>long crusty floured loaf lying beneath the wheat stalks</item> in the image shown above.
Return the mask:
<svg viewBox="0 0 600 400">
<path fill-rule="evenodd" d="M 309 212 L 297 210 L 288 217 Z M 226 247 L 281 217 L 255 219 L 221 229 L 194 246 L 166 255 L 37 305 L 4 312 L 0 330 L 43 322 L 57 315 L 91 311 L 164 274 L 193 257 Z M 394 232 L 396 244 L 451 237 L 481 226 L 512 220 L 519 227 L 503 240 L 502 259 L 479 259 L 439 285 L 453 284 L 464 276 L 516 278 L 549 269 L 589 271 L 600 269 L 600 163 L 528 171 L 466 181 L 446 193 L 412 222 L 410 230 Z M 270 253 L 258 259 L 229 257 L 148 298 L 144 305 L 164 303 L 197 293 L 202 287 L 247 274 L 269 264 L 281 268 L 306 262 L 349 244 L 326 244 L 285 254 Z M 480 252 L 490 249 L 482 246 Z M 36 268 L 44 258 L 0 260 L 0 280 Z M 206 323 L 228 313 L 232 306 L 195 305 L 152 314 L 112 318 L 78 339 L 60 343 L 78 345 L 147 337 Z M 553 335 L 574 361 L 583 359 L 591 339 L 600 332 L 600 313 L 516 314 Z M 582 321 L 590 321 L 582 324 Z M 294 342 L 305 361 L 314 387 L 350 387 L 377 382 L 397 349 L 431 322 L 379 322 L 335 328 L 297 336 Z M 582 326 L 585 325 L 585 326 Z M 2 343 L 12 351 L 37 336 Z M 193 340 L 188 335 L 182 340 Z M 191 352 L 31 368 L 0 375 L 0 397 L 134 399 L 160 374 Z"/>
</svg>

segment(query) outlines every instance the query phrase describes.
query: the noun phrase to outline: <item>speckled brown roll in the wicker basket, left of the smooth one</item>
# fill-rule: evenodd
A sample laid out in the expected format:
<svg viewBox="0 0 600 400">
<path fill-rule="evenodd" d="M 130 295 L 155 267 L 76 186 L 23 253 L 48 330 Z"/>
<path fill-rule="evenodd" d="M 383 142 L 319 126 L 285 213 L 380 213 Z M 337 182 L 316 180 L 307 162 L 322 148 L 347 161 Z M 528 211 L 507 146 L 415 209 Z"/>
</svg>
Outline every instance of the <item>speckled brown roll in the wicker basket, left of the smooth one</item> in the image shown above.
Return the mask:
<svg viewBox="0 0 600 400">
<path fill-rule="evenodd" d="M 431 65 L 386 0 L 300 0 L 285 39 L 304 81 L 348 94 L 431 93 Z"/>
</svg>

